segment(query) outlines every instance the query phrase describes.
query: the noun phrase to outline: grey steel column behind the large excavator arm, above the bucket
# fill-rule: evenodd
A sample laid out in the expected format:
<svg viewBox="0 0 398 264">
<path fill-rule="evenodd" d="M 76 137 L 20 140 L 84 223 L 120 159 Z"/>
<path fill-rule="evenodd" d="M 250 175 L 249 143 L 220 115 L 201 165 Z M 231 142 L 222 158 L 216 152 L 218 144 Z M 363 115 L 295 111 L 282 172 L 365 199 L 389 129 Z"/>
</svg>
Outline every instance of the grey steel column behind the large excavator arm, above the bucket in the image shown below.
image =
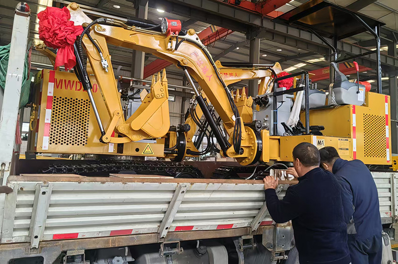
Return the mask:
<svg viewBox="0 0 398 264">
<path fill-rule="evenodd" d="M 136 18 L 148 19 L 148 0 L 136 0 L 134 7 Z M 133 50 L 133 58 L 131 63 L 132 78 L 144 78 L 144 62 L 145 52 Z"/>
</svg>

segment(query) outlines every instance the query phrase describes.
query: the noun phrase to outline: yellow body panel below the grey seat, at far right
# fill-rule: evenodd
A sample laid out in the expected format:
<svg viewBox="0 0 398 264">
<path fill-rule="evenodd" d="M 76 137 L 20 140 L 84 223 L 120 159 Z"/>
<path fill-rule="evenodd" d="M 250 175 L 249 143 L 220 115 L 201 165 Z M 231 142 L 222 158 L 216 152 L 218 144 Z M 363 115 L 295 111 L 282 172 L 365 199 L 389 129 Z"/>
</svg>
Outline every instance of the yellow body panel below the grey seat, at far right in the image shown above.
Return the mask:
<svg viewBox="0 0 398 264">
<path fill-rule="evenodd" d="M 324 126 L 325 130 L 321 131 L 324 136 L 349 139 L 352 149 L 350 159 L 359 159 L 365 164 L 390 165 L 389 117 L 390 96 L 366 92 L 362 106 L 340 105 L 310 110 L 309 124 Z M 304 123 L 303 113 L 301 122 Z"/>
</svg>

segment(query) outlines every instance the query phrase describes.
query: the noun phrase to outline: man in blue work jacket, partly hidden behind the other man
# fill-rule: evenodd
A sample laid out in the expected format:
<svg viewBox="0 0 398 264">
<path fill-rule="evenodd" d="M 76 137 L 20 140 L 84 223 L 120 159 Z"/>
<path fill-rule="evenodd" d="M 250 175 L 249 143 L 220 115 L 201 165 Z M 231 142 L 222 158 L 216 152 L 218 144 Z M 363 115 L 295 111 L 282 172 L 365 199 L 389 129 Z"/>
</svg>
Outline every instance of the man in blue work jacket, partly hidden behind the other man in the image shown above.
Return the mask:
<svg viewBox="0 0 398 264">
<path fill-rule="evenodd" d="M 380 264 L 382 261 L 382 221 L 379 197 L 372 174 L 360 160 L 340 159 L 333 147 L 320 149 L 321 164 L 332 172 L 342 187 L 352 264 Z M 352 218 L 351 218 L 352 216 Z"/>
</svg>

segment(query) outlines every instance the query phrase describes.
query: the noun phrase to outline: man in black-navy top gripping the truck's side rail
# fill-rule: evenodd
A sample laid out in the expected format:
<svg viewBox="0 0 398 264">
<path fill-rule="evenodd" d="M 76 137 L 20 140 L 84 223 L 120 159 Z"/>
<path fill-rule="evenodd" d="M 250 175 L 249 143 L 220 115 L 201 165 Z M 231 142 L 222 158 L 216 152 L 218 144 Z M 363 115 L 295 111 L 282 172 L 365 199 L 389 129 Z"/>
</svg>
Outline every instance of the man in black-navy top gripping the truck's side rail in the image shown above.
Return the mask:
<svg viewBox="0 0 398 264">
<path fill-rule="evenodd" d="M 319 168 L 318 149 L 300 143 L 293 150 L 298 184 L 286 191 L 283 200 L 275 192 L 278 181 L 264 178 L 267 208 L 277 223 L 292 220 L 300 264 L 349 264 L 347 225 L 340 185 Z"/>
</svg>

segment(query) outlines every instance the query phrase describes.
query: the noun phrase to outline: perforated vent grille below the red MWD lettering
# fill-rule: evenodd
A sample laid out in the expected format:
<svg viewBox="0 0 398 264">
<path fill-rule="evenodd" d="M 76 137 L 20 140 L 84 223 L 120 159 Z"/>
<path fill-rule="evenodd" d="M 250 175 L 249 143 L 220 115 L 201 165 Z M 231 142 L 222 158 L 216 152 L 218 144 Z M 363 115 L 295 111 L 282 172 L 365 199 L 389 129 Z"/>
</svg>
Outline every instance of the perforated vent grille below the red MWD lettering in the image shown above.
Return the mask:
<svg viewBox="0 0 398 264">
<path fill-rule="evenodd" d="M 88 99 L 54 96 L 51 111 L 50 145 L 86 145 L 90 108 Z"/>
</svg>

